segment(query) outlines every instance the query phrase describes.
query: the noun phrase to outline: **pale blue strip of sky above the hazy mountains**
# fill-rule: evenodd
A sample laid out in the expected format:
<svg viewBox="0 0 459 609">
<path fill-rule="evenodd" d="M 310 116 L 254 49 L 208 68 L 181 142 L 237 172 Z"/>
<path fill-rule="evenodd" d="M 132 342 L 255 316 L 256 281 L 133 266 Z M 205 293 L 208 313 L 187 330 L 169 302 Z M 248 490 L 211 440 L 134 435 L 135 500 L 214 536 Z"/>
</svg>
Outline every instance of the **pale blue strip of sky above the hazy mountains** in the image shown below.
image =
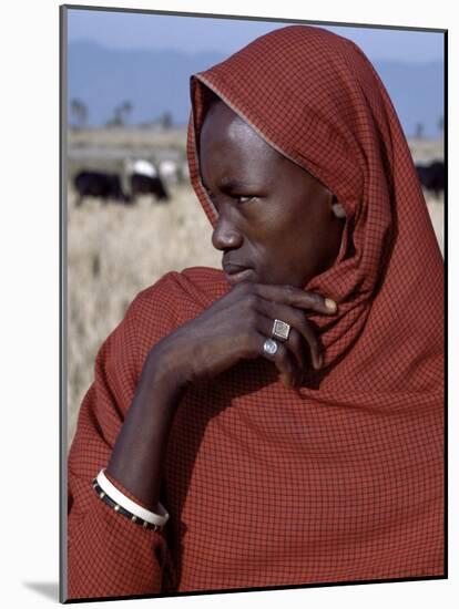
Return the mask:
<svg viewBox="0 0 459 609">
<path fill-rule="evenodd" d="M 70 9 L 68 23 L 69 42 L 91 40 L 111 49 L 176 49 L 190 53 L 218 51 L 230 54 L 293 21 Z M 443 35 L 439 32 L 314 23 L 351 39 L 370 60 L 419 63 L 443 60 Z"/>
</svg>

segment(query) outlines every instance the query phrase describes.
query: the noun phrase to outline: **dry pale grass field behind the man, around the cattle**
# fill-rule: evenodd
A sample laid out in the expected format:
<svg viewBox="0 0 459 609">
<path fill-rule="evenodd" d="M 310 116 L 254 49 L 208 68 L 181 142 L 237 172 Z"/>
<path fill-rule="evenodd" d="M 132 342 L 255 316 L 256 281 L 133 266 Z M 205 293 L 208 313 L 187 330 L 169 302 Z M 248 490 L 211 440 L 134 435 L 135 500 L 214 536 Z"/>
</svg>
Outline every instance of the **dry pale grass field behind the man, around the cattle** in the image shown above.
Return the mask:
<svg viewBox="0 0 459 609">
<path fill-rule="evenodd" d="M 88 145 L 88 138 L 78 135 L 80 140 L 73 140 L 72 144 Z M 113 133 L 110 137 L 109 146 L 125 144 L 120 135 L 119 140 Z M 144 140 L 141 135 L 139 138 L 142 147 Z M 184 144 L 183 134 L 176 138 L 178 145 Z M 421 142 L 416 147 L 415 142 L 412 146 L 415 158 L 441 157 L 440 143 Z M 169 270 L 201 265 L 221 268 L 222 252 L 212 247 L 211 225 L 194 192 L 186 184 L 170 185 L 169 189 L 172 195 L 169 205 L 153 204 L 151 197 L 144 196 L 133 207 L 103 205 L 88 198 L 76 208 L 69 182 L 69 446 L 81 401 L 92 382 L 96 351 L 135 295 Z M 427 195 L 426 199 L 442 250 L 443 202 Z"/>
</svg>

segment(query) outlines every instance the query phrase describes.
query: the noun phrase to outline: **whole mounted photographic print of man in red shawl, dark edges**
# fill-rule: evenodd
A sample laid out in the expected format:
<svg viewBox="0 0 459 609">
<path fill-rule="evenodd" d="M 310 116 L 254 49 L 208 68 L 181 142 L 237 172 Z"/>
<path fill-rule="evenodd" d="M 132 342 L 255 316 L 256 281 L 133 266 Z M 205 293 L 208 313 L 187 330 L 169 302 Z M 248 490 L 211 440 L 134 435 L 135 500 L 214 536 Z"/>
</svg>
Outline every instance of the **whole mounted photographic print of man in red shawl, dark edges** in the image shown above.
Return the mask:
<svg viewBox="0 0 459 609">
<path fill-rule="evenodd" d="M 447 30 L 61 33 L 61 602 L 446 578 Z"/>
</svg>

